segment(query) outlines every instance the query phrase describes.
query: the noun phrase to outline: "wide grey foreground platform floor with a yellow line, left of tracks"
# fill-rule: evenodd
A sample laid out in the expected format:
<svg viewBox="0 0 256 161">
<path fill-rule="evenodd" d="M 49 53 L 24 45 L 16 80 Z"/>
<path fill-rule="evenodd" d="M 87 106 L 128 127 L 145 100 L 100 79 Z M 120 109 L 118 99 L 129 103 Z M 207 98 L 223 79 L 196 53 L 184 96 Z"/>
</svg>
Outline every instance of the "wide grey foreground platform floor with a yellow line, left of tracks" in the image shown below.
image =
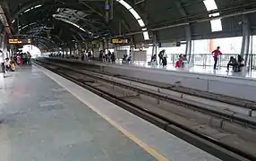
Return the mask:
<svg viewBox="0 0 256 161">
<path fill-rule="evenodd" d="M 1 161 L 216 161 L 47 69 L 0 80 Z"/>
</svg>

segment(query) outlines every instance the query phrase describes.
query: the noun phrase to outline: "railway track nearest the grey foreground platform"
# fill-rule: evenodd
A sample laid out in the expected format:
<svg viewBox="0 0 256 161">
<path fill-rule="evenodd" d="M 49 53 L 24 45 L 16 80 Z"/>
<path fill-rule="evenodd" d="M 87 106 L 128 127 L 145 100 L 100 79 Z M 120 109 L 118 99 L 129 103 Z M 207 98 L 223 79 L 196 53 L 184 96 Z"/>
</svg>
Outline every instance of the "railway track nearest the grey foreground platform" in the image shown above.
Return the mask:
<svg viewBox="0 0 256 161">
<path fill-rule="evenodd" d="M 174 97 L 167 89 L 150 89 L 138 81 L 73 70 L 64 64 L 40 65 L 223 160 L 256 160 L 256 119 L 250 115 Z"/>
</svg>

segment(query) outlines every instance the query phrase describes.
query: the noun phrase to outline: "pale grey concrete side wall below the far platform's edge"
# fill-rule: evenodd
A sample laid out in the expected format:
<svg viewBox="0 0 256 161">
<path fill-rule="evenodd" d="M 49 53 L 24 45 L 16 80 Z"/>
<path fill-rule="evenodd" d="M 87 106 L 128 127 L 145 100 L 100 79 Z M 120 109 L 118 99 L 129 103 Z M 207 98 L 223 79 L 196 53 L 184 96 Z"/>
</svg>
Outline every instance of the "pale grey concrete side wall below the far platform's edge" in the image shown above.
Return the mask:
<svg viewBox="0 0 256 161">
<path fill-rule="evenodd" d="M 122 74 L 143 80 L 177 84 L 191 89 L 200 89 L 231 97 L 256 100 L 256 80 L 216 77 L 188 72 L 172 72 L 147 68 L 104 65 L 105 72 Z"/>
</svg>

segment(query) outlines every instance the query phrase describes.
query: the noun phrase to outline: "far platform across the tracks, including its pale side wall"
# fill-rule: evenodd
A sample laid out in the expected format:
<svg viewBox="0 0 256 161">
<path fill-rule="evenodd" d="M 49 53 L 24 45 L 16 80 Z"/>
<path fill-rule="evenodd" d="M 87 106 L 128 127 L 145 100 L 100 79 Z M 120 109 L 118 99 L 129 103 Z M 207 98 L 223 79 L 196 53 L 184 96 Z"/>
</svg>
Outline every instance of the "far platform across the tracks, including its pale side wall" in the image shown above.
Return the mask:
<svg viewBox="0 0 256 161">
<path fill-rule="evenodd" d="M 42 59 L 42 58 L 41 58 Z M 230 97 L 240 97 L 254 101 L 256 96 L 256 81 L 248 75 L 225 75 L 224 72 L 211 73 L 202 70 L 201 72 L 184 70 L 167 70 L 158 68 L 148 68 L 136 65 L 122 64 L 102 64 L 98 62 L 81 62 L 72 59 L 43 58 L 50 61 L 65 61 L 71 64 L 89 64 L 102 72 L 114 75 L 124 75 L 141 80 L 152 80 L 160 83 L 178 85 L 190 89 L 216 93 Z M 199 71 L 199 70 L 197 70 Z"/>
</svg>

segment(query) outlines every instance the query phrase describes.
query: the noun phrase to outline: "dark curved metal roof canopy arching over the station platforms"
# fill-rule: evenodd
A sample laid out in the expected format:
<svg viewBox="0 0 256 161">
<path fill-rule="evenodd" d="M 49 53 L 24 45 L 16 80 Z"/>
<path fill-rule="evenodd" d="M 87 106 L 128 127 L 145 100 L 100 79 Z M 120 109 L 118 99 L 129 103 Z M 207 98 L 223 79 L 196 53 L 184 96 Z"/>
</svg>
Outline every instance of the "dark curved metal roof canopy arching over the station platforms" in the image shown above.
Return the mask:
<svg viewBox="0 0 256 161">
<path fill-rule="evenodd" d="M 190 25 L 192 39 L 199 38 L 223 38 L 242 36 L 242 15 L 247 14 L 251 24 L 252 33 L 256 29 L 256 1 L 255 0 L 215 0 L 222 19 L 222 31 L 211 32 L 209 12 L 203 0 L 124 0 L 141 15 L 146 23 L 146 28 L 152 34 L 156 34 L 159 42 L 170 40 L 184 40 L 185 25 Z M 96 37 L 107 37 L 122 34 L 130 35 L 140 42 L 143 40 L 141 27 L 132 17 L 132 14 L 121 4 L 114 3 L 114 20 L 109 24 L 104 21 L 104 0 L 8 0 L 12 21 L 20 15 L 20 25 L 52 24 L 54 29 L 51 35 L 55 35 L 64 43 L 72 41 L 73 36 L 80 40 Z M 42 4 L 41 7 L 24 11 L 33 6 Z M 22 13 L 22 14 L 21 14 Z M 57 15 L 55 19 L 53 15 Z M 72 21 L 83 30 L 62 20 Z M 21 33 L 30 33 L 34 26 L 21 30 Z M 17 21 L 13 23 L 17 32 Z M 92 34 L 90 34 L 92 33 Z M 129 34 L 127 34 L 129 33 Z M 47 34 L 40 33 L 39 36 Z M 59 42 L 58 42 L 59 43 Z"/>
</svg>

